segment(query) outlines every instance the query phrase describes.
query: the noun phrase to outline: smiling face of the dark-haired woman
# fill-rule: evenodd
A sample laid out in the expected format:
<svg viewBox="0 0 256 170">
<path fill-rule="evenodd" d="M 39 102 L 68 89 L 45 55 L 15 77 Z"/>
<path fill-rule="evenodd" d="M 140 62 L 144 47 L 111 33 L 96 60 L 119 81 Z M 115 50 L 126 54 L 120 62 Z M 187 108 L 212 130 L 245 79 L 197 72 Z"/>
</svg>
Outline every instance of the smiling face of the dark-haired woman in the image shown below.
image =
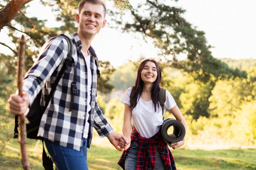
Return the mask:
<svg viewBox="0 0 256 170">
<path fill-rule="evenodd" d="M 144 84 L 155 82 L 157 79 L 157 67 L 155 63 L 150 61 L 146 62 L 140 75 Z"/>
</svg>

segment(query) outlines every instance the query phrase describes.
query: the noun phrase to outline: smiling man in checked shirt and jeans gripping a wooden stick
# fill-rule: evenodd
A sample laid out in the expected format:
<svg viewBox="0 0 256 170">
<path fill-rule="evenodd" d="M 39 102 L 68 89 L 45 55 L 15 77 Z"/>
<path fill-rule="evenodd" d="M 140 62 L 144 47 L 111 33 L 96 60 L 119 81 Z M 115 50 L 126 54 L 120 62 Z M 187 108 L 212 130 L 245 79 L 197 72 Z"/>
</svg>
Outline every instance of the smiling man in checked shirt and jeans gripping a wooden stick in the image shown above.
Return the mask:
<svg viewBox="0 0 256 170">
<path fill-rule="evenodd" d="M 94 36 L 106 25 L 105 16 L 106 7 L 101 0 L 80 2 L 79 14 L 76 14 L 78 31 L 71 37 L 76 47 L 72 56 L 74 64 L 67 66 L 41 119 L 38 135 L 44 138 L 57 170 L 88 170 L 87 148 L 90 148 L 93 126 L 99 136 L 106 136 L 117 150 L 121 150 L 120 139 L 127 141 L 112 130 L 97 105 L 97 66 L 88 49 Z M 43 95 L 49 94 L 67 51 L 67 41 L 61 37 L 44 44 L 37 61 L 25 75 L 22 97 L 12 94 L 8 99 L 11 113 L 24 114 L 42 88 Z M 73 96 L 71 104 L 74 69 L 78 94 Z"/>
</svg>

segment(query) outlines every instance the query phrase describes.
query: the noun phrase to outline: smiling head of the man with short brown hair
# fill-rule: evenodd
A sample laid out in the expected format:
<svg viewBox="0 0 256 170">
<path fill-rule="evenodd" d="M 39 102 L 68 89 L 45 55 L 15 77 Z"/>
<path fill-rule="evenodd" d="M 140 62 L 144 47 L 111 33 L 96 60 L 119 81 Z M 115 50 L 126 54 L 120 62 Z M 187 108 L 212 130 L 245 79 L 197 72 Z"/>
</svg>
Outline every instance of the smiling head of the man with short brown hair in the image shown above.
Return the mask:
<svg viewBox="0 0 256 170">
<path fill-rule="evenodd" d="M 103 6 L 85 2 L 80 14 L 76 14 L 76 22 L 79 23 L 78 32 L 85 37 L 94 36 L 106 25 Z"/>
</svg>

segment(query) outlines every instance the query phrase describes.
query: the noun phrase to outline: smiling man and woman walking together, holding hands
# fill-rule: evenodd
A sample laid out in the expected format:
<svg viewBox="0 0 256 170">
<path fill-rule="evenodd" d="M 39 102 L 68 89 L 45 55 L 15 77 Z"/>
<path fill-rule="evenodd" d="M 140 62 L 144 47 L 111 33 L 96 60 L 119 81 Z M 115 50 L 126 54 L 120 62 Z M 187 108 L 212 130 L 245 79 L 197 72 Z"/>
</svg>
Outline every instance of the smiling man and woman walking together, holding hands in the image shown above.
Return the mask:
<svg viewBox="0 0 256 170">
<path fill-rule="evenodd" d="M 122 168 L 144 170 L 147 166 L 152 170 L 175 170 L 172 154 L 158 132 L 162 124 L 162 110 L 159 99 L 155 97 L 159 93 L 161 81 L 161 70 L 157 62 L 145 60 L 140 64 L 134 95 L 130 97 L 131 88 L 128 88 L 121 100 L 125 104 L 124 135 L 113 131 L 99 109 L 96 99 L 96 58 L 90 53 L 89 47 L 92 48 L 90 44 L 94 36 L 106 25 L 105 16 L 106 6 L 101 0 L 80 2 L 79 13 L 76 14 L 78 30 L 70 36 L 76 48 L 72 56 L 76 67 L 70 66 L 65 70 L 42 116 L 38 136 L 44 138 L 56 170 L 88 170 L 87 148 L 90 148 L 93 127 L 100 137 L 107 137 L 117 150 L 124 148 L 119 161 Z M 12 94 L 8 99 L 12 114 L 25 114 L 41 89 L 43 97 L 49 94 L 50 86 L 54 84 L 67 53 L 67 41 L 61 36 L 44 44 L 38 59 L 25 75 L 23 95 Z M 78 94 L 71 97 L 74 74 Z M 186 127 L 184 117 L 168 91 L 165 108 Z M 132 135 L 131 124 L 135 127 Z M 179 148 L 183 144 L 184 139 L 174 143 L 172 148 Z M 137 157 L 141 158 L 139 155 L 144 154 L 138 149 L 141 146 L 150 148 L 152 152 L 145 159 L 146 162 L 138 163 Z"/>
</svg>

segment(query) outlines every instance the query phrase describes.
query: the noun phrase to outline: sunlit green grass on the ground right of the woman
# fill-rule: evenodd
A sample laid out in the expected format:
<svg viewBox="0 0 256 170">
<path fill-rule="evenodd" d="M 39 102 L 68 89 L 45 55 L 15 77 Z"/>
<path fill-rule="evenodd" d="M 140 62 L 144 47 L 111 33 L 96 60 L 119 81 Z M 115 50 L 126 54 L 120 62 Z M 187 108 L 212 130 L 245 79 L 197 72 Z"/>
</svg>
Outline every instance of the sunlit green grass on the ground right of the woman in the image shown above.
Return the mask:
<svg viewBox="0 0 256 170">
<path fill-rule="evenodd" d="M 256 149 L 172 152 L 179 170 L 256 170 Z"/>
</svg>

